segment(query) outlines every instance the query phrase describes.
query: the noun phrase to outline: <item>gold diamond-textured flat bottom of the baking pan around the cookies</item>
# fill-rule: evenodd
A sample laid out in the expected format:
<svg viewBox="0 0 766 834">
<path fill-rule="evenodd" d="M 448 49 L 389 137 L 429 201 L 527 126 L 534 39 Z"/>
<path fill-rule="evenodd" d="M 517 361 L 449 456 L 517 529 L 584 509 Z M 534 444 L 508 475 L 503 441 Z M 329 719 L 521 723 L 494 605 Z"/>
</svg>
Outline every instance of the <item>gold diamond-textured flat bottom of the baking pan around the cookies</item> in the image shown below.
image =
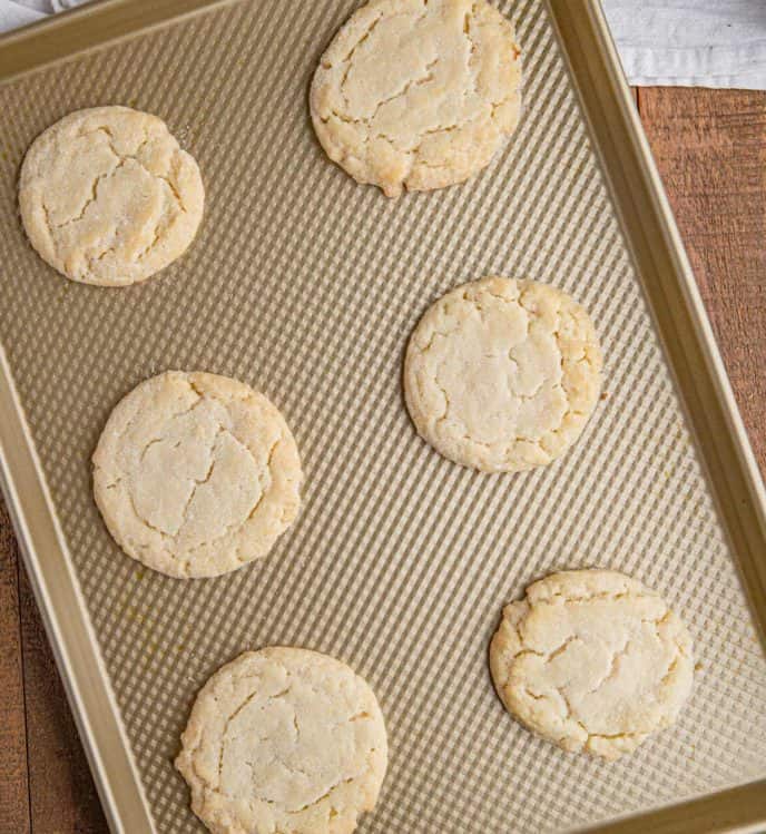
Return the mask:
<svg viewBox="0 0 766 834">
<path fill-rule="evenodd" d="M 766 665 L 542 3 L 501 2 L 526 115 L 462 188 L 389 203 L 314 140 L 311 73 L 354 0 L 245 1 L 0 88 L 0 325 L 157 828 L 199 830 L 171 766 L 196 690 L 247 648 L 294 644 L 374 686 L 391 763 L 364 832 L 540 832 L 647 810 L 766 771 Z M 128 290 L 77 286 L 26 243 L 30 140 L 127 104 L 199 160 L 193 249 Z M 442 292 L 489 273 L 591 311 L 608 398 L 558 464 L 488 477 L 440 459 L 401 394 L 406 338 Z M 266 561 L 184 582 L 122 556 L 89 458 L 115 403 L 165 369 L 263 390 L 286 414 L 305 506 Z M 502 710 L 487 646 L 502 605 L 561 568 L 608 566 L 688 621 L 700 669 L 675 729 L 616 765 L 567 756 Z"/>
</svg>

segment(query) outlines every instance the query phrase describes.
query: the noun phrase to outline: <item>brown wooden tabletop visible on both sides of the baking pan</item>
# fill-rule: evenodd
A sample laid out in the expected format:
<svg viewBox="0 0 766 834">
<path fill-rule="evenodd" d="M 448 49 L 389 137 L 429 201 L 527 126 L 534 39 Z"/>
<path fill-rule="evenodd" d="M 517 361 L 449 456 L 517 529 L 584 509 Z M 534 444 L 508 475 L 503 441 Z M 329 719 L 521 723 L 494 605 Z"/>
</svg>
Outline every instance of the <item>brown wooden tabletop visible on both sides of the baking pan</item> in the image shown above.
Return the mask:
<svg viewBox="0 0 766 834">
<path fill-rule="evenodd" d="M 644 126 L 766 471 L 766 92 L 641 88 Z M 0 832 L 106 832 L 0 499 Z"/>
</svg>

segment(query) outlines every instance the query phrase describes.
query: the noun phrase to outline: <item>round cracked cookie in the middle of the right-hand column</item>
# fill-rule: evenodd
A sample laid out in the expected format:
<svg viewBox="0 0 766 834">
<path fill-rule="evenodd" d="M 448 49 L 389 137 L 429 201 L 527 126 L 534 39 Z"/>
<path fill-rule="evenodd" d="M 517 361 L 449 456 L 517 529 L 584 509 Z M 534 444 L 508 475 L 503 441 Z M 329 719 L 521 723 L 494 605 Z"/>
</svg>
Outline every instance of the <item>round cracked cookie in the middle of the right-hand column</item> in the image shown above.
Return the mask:
<svg viewBox="0 0 766 834">
<path fill-rule="evenodd" d="M 559 458 L 598 402 L 601 350 L 593 324 L 547 284 L 482 278 L 433 304 L 404 361 L 419 434 L 484 472 L 519 472 Z"/>
</svg>

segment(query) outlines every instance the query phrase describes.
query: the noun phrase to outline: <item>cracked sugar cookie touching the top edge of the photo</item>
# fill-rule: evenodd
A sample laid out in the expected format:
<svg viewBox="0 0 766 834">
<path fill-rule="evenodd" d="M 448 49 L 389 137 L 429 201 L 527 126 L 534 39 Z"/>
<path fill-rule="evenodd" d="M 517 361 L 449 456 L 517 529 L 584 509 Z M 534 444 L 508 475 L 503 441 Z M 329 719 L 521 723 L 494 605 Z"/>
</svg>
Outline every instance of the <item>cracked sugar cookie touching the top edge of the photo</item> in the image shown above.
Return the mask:
<svg viewBox="0 0 766 834">
<path fill-rule="evenodd" d="M 322 57 L 311 111 L 333 161 L 397 197 L 487 167 L 520 87 L 513 26 L 487 0 L 372 0 Z"/>
</svg>

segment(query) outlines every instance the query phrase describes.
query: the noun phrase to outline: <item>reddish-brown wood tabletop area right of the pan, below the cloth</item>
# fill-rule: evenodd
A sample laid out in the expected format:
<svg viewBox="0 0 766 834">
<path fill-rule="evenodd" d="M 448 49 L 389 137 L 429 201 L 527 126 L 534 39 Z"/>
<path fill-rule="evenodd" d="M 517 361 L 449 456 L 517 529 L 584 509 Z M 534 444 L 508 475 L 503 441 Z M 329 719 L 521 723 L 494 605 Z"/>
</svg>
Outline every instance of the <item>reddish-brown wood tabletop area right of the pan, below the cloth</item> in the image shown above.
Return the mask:
<svg viewBox="0 0 766 834">
<path fill-rule="evenodd" d="M 766 472 L 766 92 L 641 88 L 639 111 Z"/>
</svg>

